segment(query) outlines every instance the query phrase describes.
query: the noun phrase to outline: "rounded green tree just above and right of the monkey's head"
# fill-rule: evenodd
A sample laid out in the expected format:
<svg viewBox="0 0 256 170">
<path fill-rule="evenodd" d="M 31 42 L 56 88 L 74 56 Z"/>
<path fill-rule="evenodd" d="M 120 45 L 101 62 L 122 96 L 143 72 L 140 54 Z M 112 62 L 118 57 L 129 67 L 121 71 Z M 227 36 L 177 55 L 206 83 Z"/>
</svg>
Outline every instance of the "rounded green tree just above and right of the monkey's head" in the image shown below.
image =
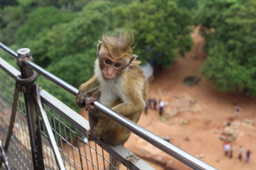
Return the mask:
<svg viewBox="0 0 256 170">
<path fill-rule="evenodd" d="M 158 64 L 170 66 L 177 51 L 184 55 L 191 48 L 191 17 L 175 1 L 134 1 L 117 6 L 115 14 L 115 25 L 134 32 L 134 52 L 140 60 L 156 59 Z"/>
</svg>

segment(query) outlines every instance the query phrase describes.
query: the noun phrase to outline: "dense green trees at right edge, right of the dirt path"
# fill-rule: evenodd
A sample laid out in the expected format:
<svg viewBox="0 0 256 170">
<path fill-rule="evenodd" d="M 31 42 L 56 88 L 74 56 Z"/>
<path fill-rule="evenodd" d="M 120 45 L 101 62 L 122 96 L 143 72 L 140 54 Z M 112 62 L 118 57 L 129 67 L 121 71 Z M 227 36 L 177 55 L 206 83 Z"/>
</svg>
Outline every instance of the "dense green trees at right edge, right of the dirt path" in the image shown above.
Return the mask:
<svg viewBox="0 0 256 170">
<path fill-rule="evenodd" d="M 223 92 L 256 95 L 256 1 L 200 1 L 196 24 L 202 25 L 209 57 L 202 73 Z"/>
</svg>

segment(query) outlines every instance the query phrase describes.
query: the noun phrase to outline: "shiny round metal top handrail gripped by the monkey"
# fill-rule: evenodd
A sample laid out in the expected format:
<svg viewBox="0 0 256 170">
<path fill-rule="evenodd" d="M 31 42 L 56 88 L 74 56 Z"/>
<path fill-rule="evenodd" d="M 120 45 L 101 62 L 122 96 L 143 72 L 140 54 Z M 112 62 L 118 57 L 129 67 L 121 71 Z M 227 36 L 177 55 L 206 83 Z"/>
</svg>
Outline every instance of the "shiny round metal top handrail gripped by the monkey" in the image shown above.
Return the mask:
<svg viewBox="0 0 256 170">
<path fill-rule="evenodd" d="M 12 55 L 13 57 L 17 58 L 17 53 L 13 52 L 10 48 L 3 45 L 3 43 L 0 43 L 0 48 L 3 48 L 4 51 Z M 42 76 L 45 76 L 47 79 L 51 80 L 52 82 L 56 83 L 63 89 L 67 90 L 67 92 L 70 92 L 74 96 L 77 95 L 78 90 L 73 87 L 72 85 L 68 84 L 67 82 L 61 80 L 57 76 L 54 76 L 54 74 L 49 73 L 42 67 L 36 65 L 35 63 L 26 60 L 25 61 L 28 66 L 30 66 L 32 69 L 34 69 L 36 72 L 42 74 Z M 109 109 L 108 107 L 104 106 L 103 104 L 99 102 L 94 103 L 97 108 L 104 111 L 108 117 L 112 118 L 113 120 L 116 120 L 119 124 L 123 125 L 125 128 L 127 128 L 129 131 L 133 132 L 137 136 L 140 136 L 140 138 L 145 139 L 145 141 L 148 141 L 148 143 L 151 143 L 152 145 L 156 146 L 163 152 L 168 153 L 175 159 L 179 160 L 180 162 L 186 164 L 187 166 L 193 168 L 193 169 L 216 169 L 209 164 L 206 164 L 200 159 L 197 159 L 193 155 L 190 155 L 189 153 L 185 152 L 184 150 L 181 150 L 177 146 L 173 145 L 172 143 L 169 143 L 165 141 L 163 138 L 160 138 L 159 136 L 156 136 L 156 134 L 147 131 L 147 129 L 144 129 L 138 124 L 135 124 L 131 120 L 128 120 L 127 118 L 123 117 L 122 115 L 119 115 L 115 113 L 115 111 Z"/>
</svg>

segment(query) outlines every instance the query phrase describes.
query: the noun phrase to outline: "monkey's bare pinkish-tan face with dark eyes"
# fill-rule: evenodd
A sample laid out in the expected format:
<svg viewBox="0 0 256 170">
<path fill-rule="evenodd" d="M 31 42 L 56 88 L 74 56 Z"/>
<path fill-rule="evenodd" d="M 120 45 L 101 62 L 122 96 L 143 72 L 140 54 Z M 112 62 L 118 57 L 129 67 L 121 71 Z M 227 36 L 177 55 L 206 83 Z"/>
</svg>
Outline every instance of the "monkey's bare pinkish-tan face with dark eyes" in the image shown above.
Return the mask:
<svg viewBox="0 0 256 170">
<path fill-rule="evenodd" d="M 105 81 L 113 80 L 122 73 L 125 68 L 125 59 L 115 60 L 109 56 L 101 57 L 100 69 L 102 72 L 102 78 Z"/>
</svg>

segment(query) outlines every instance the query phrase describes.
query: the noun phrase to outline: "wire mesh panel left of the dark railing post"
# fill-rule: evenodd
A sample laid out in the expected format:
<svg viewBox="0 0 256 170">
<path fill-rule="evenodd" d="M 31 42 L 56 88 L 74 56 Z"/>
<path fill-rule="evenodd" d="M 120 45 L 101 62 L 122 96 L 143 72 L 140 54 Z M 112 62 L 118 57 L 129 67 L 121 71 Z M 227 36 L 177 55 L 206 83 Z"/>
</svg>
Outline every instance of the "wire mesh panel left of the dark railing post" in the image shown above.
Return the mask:
<svg viewBox="0 0 256 170">
<path fill-rule="evenodd" d="M 15 81 L 0 69 L 0 138 L 5 143 L 12 112 Z M 33 169 L 24 97 L 20 94 L 19 108 L 8 149 L 8 160 L 12 169 Z"/>
</svg>

